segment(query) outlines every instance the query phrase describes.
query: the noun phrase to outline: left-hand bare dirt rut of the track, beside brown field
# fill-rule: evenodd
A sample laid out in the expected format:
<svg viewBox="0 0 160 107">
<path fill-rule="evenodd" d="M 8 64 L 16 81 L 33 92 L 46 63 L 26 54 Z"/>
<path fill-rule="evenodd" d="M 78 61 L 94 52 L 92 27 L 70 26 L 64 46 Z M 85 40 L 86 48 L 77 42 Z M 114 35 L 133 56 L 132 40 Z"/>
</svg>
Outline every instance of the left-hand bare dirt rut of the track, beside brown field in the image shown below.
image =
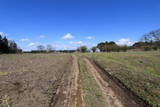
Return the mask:
<svg viewBox="0 0 160 107">
<path fill-rule="evenodd" d="M 72 68 L 61 79 L 55 101 L 49 107 L 84 107 L 77 57 L 72 55 Z"/>
</svg>

